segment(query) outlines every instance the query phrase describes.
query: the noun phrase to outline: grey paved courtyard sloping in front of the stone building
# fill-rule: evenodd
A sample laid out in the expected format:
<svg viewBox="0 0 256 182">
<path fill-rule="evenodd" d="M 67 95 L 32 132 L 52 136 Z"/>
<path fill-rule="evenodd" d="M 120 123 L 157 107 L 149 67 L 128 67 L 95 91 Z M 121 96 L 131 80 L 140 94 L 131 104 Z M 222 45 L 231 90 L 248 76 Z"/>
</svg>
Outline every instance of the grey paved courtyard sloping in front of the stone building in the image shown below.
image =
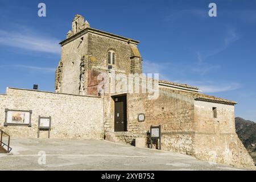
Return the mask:
<svg viewBox="0 0 256 182">
<path fill-rule="evenodd" d="M 104 140 L 11 139 L 11 147 L 11 154 L 0 154 L 0 171 L 241 170 L 203 162 L 188 155 L 124 146 Z"/>
</svg>

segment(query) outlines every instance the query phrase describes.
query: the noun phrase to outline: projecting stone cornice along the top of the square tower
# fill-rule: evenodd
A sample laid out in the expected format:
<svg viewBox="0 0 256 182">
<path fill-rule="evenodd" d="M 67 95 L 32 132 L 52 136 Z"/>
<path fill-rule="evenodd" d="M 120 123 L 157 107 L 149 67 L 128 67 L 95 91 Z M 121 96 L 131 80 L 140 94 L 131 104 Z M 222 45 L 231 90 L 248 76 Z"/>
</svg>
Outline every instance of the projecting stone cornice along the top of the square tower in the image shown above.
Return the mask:
<svg viewBox="0 0 256 182">
<path fill-rule="evenodd" d="M 129 42 L 129 43 L 135 44 L 135 45 L 137 45 L 139 43 L 138 40 L 125 38 L 124 36 L 119 36 L 119 35 L 111 34 L 109 32 L 105 32 L 105 31 L 97 30 L 95 28 L 88 27 L 88 28 L 85 28 L 84 30 L 78 32 L 77 34 L 72 35 L 70 38 L 67 38 L 67 39 L 63 40 L 63 42 L 60 42 L 60 45 L 64 46 L 65 44 L 67 44 L 69 42 L 72 42 L 73 40 L 77 39 L 79 36 L 87 34 L 88 32 L 90 32 L 92 34 L 102 35 L 102 36 L 106 36 L 106 37 L 109 37 L 109 38 L 121 40 L 123 42 Z"/>
</svg>

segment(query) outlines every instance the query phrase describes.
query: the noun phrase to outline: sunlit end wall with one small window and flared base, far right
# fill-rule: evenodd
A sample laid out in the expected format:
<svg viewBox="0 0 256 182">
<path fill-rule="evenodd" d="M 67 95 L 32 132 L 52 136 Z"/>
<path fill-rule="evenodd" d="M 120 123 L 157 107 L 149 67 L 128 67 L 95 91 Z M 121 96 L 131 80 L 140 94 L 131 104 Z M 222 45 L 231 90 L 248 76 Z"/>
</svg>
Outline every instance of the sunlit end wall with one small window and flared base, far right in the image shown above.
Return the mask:
<svg viewBox="0 0 256 182">
<path fill-rule="evenodd" d="M 213 117 L 217 108 L 217 118 Z M 237 137 L 234 106 L 195 101 L 195 156 L 201 160 L 238 167 L 254 166 L 253 160 Z"/>
</svg>

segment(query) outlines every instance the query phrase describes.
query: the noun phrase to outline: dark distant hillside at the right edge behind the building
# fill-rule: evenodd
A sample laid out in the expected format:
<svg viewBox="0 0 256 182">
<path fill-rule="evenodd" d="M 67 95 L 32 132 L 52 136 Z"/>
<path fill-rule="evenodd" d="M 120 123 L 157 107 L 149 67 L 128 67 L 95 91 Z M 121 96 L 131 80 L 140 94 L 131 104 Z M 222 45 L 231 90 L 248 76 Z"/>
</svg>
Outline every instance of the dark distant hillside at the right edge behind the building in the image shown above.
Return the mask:
<svg viewBox="0 0 256 182">
<path fill-rule="evenodd" d="M 237 117 L 236 132 L 256 164 L 256 123 Z"/>
</svg>

